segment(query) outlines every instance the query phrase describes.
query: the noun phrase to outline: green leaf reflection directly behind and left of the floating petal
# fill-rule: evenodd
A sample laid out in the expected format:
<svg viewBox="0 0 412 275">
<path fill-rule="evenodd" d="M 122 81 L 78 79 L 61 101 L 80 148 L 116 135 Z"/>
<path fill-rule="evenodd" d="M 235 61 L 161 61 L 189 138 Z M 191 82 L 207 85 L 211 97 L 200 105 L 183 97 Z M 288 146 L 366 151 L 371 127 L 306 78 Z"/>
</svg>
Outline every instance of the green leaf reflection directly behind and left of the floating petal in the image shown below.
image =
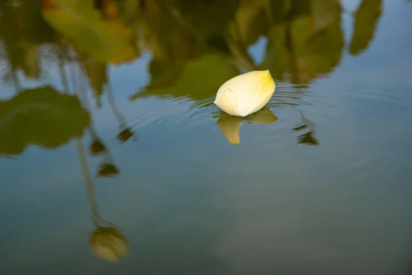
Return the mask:
<svg viewBox="0 0 412 275">
<path fill-rule="evenodd" d="M 220 85 L 236 74 L 238 71 L 228 63 L 225 56 L 205 54 L 201 58 L 187 62 L 180 78 L 170 87 L 146 89 L 135 94 L 132 99 L 147 96 L 172 96 L 200 100 L 216 94 Z"/>
</svg>

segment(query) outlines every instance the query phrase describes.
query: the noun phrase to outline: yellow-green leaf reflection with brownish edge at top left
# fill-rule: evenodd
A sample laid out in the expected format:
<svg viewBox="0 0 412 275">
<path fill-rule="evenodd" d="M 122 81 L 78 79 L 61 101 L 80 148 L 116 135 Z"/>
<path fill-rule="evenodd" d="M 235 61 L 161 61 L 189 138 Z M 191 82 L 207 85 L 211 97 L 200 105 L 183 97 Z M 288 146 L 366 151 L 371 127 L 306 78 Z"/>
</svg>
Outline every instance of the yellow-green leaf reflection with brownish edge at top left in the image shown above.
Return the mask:
<svg viewBox="0 0 412 275">
<path fill-rule="evenodd" d="M 95 61 L 122 63 L 137 56 L 133 32 L 117 20 L 104 21 L 92 0 L 56 0 L 43 8 L 43 16 L 78 50 Z"/>
</svg>

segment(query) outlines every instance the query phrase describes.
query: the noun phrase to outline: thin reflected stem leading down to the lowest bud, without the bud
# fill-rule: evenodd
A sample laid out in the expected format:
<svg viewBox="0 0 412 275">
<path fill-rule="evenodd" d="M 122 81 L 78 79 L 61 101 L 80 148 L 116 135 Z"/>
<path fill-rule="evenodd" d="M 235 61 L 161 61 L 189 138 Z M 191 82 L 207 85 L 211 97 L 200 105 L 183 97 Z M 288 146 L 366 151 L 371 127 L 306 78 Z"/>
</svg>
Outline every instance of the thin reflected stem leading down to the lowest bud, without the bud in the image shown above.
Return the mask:
<svg viewBox="0 0 412 275">
<path fill-rule="evenodd" d="M 82 166 L 82 174 L 84 177 L 84 181 L 86 181 L 86 192 L 87 198 L 89 199 L 89 203 L 91 206 L 91 213 L 93 215 L 93 223 L 96 226 L 101 227 L 104 225 L 104 220 L 100 217 L 99 210 L 98 210 L 98 203 L 95 198 L 95 189 L 93 180 L 91 179 L 91 173 L 89 167 L 87 166 L 87 159 L 84 153 L 84 148 L 82 144 L 82 140 L 77 140 L 77 147 L 78 147 L 78 154 L 80 158 L 80 165 Z"/>
</svg>

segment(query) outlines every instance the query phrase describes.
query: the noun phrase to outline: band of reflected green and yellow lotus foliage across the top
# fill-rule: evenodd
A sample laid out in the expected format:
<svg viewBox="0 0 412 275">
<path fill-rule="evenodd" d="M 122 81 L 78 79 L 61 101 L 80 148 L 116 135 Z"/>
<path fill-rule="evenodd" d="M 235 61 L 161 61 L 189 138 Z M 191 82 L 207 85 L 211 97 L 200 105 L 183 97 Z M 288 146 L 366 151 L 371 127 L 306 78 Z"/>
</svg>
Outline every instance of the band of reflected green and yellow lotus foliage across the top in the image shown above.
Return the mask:
<svg viewBox="0 0 412 275">
<path fill-rule="evenodd" d="M 21 52 L 30 50 L 19 49 L 33 45 L 35 50 L 41 43 L 53 42 L 59 34 L 76 50 L 98 104 L 107 83 L 108 64 L 133 60 L 144 50 L 152 53 L 151 80 L 132 98 L 168 95 L 204 99 L 209 93 L 203 91 L 198 80 L 192 80 L 193 76 L 187 78 L 187 71 L 208 68 L 197 73 L 204 80 L 201 74 L 211 74 L 221 67 L 233 67 L 231 74 L 270 69 L 277 80 L 308 84 L 332 72 L 344 46 L 339 0 L 42 2 L 42 7 L 37 1 L 18 8 L 8 5 L 1 15 L 1 25 L 10 26 L 2 28 L 1 38 L 12 67 L 21 67 L 28 76 L 37 77 L 38 72 L 34 74 L 28 64 L 38 68 L 38 62 L 23 62 L 19 58 L 27 54 Z M 364 0 L 356 12 L 352 54 L 369 45 L 381 4 L 381 0 Z M 19 26 L 23 32 L 13 29 Z M 268 46 L 264 62 L 257 65 L 247 50 L 260 36 L 268 38 Z M 206 56 L 210 55 L 222 56 L 220 64 L 209 63 Z M 14 79 L 18 85 L 19 79 Z M 213 86 L 220 82 L 216 78 Z"/>
</svg>

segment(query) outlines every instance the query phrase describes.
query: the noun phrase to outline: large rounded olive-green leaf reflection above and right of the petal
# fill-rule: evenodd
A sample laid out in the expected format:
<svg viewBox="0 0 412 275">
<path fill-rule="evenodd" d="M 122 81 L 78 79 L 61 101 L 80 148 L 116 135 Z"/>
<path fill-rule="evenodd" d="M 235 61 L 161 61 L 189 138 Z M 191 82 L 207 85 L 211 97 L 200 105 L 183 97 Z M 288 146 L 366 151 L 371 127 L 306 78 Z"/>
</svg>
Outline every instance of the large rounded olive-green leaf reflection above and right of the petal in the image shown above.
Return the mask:
<svg viewBox="0 0 412 275">
<path fill-rule="evenodd" d="M 312 0 L 310 8 L 299 11 L 299 17 L 291 14 L 269 32 L 262 69 L 270 69 L 274 78 L 282 80 L 289 72 L 292 83 L 308 83 L 341 60 L 345 41 L 339 1 Z"/>
</svg>

